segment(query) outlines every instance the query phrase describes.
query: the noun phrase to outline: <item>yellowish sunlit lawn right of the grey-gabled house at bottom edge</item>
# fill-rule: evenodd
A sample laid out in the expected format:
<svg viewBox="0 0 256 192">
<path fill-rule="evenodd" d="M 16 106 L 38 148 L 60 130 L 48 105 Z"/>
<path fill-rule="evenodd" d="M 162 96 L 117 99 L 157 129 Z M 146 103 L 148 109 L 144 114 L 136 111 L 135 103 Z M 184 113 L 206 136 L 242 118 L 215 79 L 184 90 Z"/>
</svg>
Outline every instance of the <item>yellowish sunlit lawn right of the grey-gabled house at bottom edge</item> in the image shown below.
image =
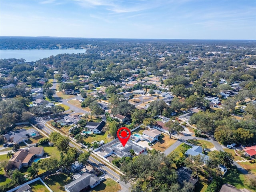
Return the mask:
<svg viewBox="0 0 256 192">
<path fill-rule="evenodd" d="M 104 182 L 93 188 L 91 192 L 117 192 L 121 189 L 121 186 L 112 179 L 106 179 Z"/>
</svg>

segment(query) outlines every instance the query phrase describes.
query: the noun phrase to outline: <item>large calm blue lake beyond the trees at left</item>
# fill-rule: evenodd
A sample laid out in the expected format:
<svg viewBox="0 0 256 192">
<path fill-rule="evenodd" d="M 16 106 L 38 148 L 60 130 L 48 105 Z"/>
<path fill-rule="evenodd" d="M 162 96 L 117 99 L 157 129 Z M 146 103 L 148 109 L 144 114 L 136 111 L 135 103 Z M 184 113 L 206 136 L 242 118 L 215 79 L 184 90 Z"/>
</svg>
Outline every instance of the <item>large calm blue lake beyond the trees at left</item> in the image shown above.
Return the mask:
<svg viewBox="0 0 256 192">
<path fill-rule="evenodd" d="M 85 53 L 86 49 L 26 49 L 26 50 L 0 50 L 0 58 L 25 59 L 26 62 L 36 61 L 42 58 L 56 56 L 63 53 Z"/>
</svg>

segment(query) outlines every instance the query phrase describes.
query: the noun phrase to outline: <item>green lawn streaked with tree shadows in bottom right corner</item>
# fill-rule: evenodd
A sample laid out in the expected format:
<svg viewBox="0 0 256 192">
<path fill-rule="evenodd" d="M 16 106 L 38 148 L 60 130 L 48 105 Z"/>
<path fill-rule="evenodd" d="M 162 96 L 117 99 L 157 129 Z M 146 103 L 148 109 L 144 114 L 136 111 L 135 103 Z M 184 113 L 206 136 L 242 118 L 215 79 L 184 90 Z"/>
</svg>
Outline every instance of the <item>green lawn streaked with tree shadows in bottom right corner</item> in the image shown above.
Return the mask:
<svg viewBox="0 0 256 192">
<path fill-rule="evenodd" d="M 238 189 L 240 189 L 240 188 L 250 189 L 250 188 L 248 188 L 248 186 L 246 186 L 244 184 L 244 180 L 245 180 L 244 174 L 241 174 L 236 169 L 229 169 L 223 178 L 224 183 L 231 184 Z M 252 190 L 252 189 L 250 189 L 250 190 L 256 192 L 256 190 Z"/>
</svg>

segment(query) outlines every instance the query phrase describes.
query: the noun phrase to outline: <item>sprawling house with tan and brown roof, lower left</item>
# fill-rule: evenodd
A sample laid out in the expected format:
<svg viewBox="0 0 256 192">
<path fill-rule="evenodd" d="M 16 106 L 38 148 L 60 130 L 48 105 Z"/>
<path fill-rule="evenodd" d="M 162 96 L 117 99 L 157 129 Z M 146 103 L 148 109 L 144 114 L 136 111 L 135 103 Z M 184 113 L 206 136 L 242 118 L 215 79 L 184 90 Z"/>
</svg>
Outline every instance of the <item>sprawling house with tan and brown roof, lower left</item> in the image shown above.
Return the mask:
<svg viewBox="0 0 256 192">
<path fill-rule="evenodd" d="M 26 150 L 20 149 L 19 151 L 13 154 L 8 164 L 12 164 L 12 166 L 20 170 L 20 168 L 22 168 L 23 166 L 29 166 L 30 162 L 34 157 L 42 157 L 43 155 L 43 147 L 31 147 Z"/>
</svg>

